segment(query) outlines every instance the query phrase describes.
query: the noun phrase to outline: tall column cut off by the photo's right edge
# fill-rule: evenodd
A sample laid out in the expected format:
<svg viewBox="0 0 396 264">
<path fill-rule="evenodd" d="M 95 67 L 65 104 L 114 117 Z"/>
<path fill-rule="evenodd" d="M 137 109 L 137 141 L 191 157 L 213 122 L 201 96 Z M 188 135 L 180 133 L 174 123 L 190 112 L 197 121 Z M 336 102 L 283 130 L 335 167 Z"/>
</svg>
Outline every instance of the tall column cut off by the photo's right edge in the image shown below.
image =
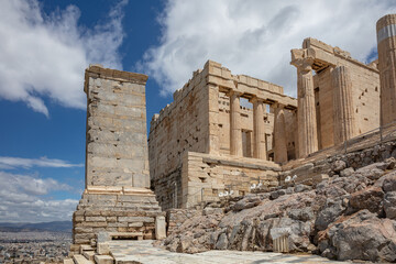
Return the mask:
<svg viewBox="0 0 396 264">
<path fill-rule="evenodd" d="M 396 121 L 396 14 L 376 23 L 381 81 L 381 124 Z"/>
</svg>

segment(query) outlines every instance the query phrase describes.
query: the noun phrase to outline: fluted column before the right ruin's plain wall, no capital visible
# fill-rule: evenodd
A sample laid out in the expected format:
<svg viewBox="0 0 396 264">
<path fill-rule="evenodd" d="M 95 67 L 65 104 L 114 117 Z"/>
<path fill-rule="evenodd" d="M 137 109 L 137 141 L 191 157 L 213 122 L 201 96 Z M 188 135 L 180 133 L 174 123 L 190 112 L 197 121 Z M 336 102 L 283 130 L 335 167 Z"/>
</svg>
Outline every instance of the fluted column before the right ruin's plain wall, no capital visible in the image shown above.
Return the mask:
<svg viewBox="0 0 396 264">
<path fill-rule="evenodd" d="M 334 145 L 356 135 L 356 120 L 353 111 L 352 80 L 345 66 L 332 70 Z"/>
</svg>

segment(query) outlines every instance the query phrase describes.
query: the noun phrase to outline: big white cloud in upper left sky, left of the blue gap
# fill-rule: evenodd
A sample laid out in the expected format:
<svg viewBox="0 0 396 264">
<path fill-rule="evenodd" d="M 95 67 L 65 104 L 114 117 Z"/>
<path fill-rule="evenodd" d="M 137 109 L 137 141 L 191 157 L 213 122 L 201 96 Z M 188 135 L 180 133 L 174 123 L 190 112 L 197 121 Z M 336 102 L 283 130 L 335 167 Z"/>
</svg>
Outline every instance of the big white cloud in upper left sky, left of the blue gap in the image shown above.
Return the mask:
<svg viewBox="0 0 396 264">
<path fill-rule="evenodd" d="M 119 2 L 108 21 L 94 29 L 78 25 L 75 6 L 43 14 L 37 0 L 6 0 L 0 9 L 0 98 L 24 101 L 48 116 L 43 98 L 84 109 L 84 70 L 90 63 L 121 69 L 123 38 Z"/>
</svg>

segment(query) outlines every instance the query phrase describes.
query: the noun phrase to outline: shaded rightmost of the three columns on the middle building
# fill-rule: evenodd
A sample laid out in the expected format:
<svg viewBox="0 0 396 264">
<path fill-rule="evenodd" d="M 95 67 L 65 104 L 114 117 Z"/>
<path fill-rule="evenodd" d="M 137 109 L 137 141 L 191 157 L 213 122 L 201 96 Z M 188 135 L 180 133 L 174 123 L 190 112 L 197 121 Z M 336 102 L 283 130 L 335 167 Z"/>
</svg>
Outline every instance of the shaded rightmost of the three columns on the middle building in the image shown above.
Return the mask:
<svg viewBox="0 0 396 264">
<path fill-rule="evenodd" d="M 287 162 L 287 141 L 285 128 L 285 110 L 280 103 L 274 103 L 275 121 L 274 121 L 274 161 L 276 163 Z"/>
</svg>

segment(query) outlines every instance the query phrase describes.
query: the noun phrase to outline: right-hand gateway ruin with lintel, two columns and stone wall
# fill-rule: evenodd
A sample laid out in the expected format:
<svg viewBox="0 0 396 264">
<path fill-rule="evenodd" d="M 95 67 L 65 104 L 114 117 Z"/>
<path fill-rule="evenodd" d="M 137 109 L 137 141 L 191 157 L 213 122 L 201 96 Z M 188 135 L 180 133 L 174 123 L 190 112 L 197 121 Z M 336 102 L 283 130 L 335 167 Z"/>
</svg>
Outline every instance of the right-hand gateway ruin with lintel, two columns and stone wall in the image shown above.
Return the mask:
<svg viewBox="0 0 396 264">
<path fill-rule="evenodd" d="M 380 127 L 377 62 L 363 64 L 309 37 L 292 50 L 290 64 L 297 67 L 299 157 Z"/>
</svg>

